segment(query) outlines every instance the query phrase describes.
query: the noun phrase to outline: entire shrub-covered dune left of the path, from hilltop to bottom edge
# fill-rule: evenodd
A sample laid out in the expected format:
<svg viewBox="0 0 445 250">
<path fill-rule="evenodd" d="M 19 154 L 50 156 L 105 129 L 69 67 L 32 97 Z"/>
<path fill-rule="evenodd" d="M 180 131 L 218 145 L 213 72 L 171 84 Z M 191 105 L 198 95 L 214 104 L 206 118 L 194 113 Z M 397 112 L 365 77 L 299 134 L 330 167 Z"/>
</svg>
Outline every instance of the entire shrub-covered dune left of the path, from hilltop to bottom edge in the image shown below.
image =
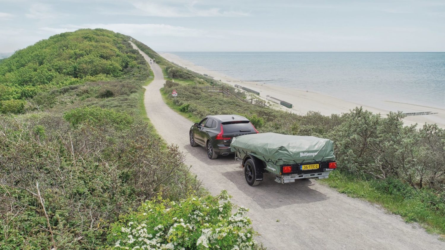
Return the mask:
<svg viewBox="0 0 445 250">
<path fill-rule="evenodd" d="M 215 206 L 220 216 L 194 222 L 193 236 L 181 234 L 194 241 L 181 244 L 195 249 L 200 239 L 216 247 L 201 234 L 235 217 L 245 221 L 237 230 L 254 235 L 243 210 L 233 214 L 235 205 L 226 201 L 220 211 L 178 147 L 150 125 L 141 100 L 151 71 L 128 40 L 82 29 L 0 61 L 0 249 L 120 249 L 136 244 L 117 242 L 115 233 L 140 222 L 136 211 L 191 201 Z M 173 212 L 185 213 L 182 206 Z M 177 223 L 171 219 L 148 221 L 145 230 L 162 225 L 156 230 L 167 235 Z M 150 238 L 158 249 L 179 244 L 158 236 Z M 227 237 L 229 245 L 241 238 Z"/>
</svg>

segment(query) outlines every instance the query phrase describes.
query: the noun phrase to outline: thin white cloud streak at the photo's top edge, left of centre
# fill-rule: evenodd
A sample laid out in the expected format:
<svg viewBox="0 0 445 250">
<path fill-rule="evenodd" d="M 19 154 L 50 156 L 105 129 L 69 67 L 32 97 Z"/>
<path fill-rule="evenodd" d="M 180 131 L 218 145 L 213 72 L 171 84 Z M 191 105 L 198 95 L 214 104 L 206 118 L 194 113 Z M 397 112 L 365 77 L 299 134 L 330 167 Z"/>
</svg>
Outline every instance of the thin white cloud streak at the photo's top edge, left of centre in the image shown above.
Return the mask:
<svg viewBox="0 0 445 250">
<path fill-rule="evenodd" d="M 249 16 L 247 12 L 226 11 L 221 8 L 200 8 L 198 1 L 186 1 L 179 4 L 159 4 L 156 1 L 134 1 L 133 6 L 138 12 L 135 15 L 161 17 L 193 17 L 193 16 Z"/>
</svg>

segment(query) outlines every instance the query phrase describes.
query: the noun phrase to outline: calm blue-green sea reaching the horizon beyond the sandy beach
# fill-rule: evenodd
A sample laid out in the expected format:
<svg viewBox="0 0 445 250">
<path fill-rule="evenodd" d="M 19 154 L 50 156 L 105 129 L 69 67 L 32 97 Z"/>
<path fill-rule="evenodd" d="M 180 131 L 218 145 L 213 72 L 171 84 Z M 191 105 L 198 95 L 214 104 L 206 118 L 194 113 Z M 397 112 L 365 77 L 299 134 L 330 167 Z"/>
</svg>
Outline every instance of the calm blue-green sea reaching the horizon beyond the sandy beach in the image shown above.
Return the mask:
<svg viewBox="0 0 445 250">
<path fill-rule="evenodd" d="M 169 52 L 244 81 L 383 109 L 445 108 L 445 52 Z M 396 111 L 396 110 L 394 110 Z"/>
</svg>

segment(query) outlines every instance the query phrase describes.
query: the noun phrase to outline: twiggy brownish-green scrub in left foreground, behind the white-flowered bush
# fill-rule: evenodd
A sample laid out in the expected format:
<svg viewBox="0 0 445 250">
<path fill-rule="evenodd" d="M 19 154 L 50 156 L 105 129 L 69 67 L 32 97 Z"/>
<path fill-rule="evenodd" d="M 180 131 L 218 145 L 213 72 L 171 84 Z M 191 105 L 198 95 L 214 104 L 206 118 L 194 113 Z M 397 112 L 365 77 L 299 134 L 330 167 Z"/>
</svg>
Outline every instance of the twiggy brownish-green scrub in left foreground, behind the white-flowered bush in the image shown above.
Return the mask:
<svg viewBox="0 0 445 250">
<path fill-rule="evenodd" d="M 138 119 L 117 131 L 72 127 L 58 113 L 2 116 L 0 249 L 52 247 L 43 208 L 58 249 L 101 249 L 120 214 L 159 193 L 170 200 L 201 194 L 183 161 L 178 147 Z"/>
</svg>

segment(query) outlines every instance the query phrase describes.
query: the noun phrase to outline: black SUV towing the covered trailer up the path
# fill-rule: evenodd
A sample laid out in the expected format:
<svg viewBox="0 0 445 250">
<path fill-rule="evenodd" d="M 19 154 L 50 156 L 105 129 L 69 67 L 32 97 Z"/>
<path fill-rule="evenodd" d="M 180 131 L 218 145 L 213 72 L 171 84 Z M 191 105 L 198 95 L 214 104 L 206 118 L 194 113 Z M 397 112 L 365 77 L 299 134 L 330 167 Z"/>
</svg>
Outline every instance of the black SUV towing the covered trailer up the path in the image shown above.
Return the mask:
<svg viewBox="0 0 445 250">
<path fill-rule="evenodd" d="M 229 155 L 233 137 L 255 134 L 258 131 L 253 124 L 240 115 L 207 115 L 190 128 L 190 145 L 201 145 L 207 149 L 210 159 L 218 155 Z"/>
</svg>

